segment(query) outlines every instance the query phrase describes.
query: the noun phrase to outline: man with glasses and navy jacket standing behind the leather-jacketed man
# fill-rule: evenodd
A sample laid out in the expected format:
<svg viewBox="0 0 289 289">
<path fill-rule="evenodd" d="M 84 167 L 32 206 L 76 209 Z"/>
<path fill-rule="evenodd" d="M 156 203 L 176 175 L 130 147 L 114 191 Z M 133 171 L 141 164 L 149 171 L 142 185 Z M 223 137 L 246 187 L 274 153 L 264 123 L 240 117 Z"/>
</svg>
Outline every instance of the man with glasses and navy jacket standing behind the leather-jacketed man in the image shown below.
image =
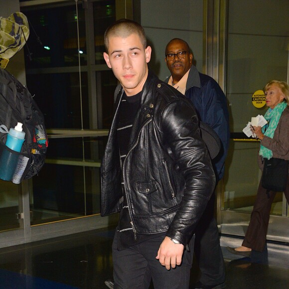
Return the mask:
<svg viewBox="0 0 289 289">
<path fill-rule="evenodd" d="M 193 54 L 186 41 L 179 38 L 170 40 L 165 48 L 165 62 L 171 73 L 165 82 L 191 100 L 199 120 L 210 126 L 220 138 L 221 150 L 212 159 L 217 183 L 224 175 L 230 140 L 226 97 L 213 78 L 199 73 L 192 65 Z M 195 253 L 201 271 L 196 289 L 225 288 L 225 266 L 214 207 L 215 194 L 195 229 Z"/>
</svg>

